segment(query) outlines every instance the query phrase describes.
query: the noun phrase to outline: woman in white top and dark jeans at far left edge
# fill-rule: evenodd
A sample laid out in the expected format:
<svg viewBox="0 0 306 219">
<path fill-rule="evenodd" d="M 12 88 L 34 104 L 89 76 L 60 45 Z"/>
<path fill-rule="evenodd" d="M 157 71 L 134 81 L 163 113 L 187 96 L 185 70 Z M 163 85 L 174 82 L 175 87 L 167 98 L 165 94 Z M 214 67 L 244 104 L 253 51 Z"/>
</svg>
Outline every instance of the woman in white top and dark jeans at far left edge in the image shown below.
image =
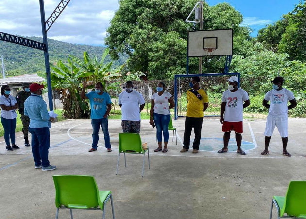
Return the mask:
<svg viewBox="0 0 306 219">
<path fill-rule="evenodd" d="M 11 88 L 8 85 L 1 87 L 0 107 L 1 107 L 1 123 L 4 128 L 4 140 L 6 143 L 6 150 L 12 150 L 12 148 L 19 149 L 15 145 L 15 128 L 18 104 L 15 97 L 10 95 Z M 12 146 L 10 145 L 10 138 Z"/>
</svg>

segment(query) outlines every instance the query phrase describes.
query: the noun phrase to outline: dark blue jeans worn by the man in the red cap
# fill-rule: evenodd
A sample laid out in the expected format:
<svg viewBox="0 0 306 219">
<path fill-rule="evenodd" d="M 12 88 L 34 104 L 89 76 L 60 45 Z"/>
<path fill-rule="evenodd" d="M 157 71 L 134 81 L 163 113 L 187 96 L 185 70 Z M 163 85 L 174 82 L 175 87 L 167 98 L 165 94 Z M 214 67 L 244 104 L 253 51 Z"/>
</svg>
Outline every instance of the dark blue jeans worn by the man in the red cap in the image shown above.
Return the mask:
<svg viewBox="0 0 306 219">
<path fill-rule="evenodd" d="M 35 166 L 49 166 L 48 150 L 50 147 L 50 131 L 49 127 L 30 128 L 32 134 L 32 154 L 35 161 Z"/>
</svg>

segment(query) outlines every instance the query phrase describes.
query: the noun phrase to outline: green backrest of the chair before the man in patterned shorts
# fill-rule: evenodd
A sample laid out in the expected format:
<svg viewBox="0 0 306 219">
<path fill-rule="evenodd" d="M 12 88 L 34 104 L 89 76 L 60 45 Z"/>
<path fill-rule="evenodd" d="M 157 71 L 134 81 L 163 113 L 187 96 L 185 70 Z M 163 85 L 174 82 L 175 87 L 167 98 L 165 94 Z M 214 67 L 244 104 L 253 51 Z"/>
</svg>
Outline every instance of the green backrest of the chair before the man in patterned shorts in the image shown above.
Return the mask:
<svg viewBox="0 0 306 219">
<path fill-rule="evenodd" d="M 135 151 L 143 152 L 141 138 L 136 133 L 119 133 L 119 152 Z"/>
</svg>

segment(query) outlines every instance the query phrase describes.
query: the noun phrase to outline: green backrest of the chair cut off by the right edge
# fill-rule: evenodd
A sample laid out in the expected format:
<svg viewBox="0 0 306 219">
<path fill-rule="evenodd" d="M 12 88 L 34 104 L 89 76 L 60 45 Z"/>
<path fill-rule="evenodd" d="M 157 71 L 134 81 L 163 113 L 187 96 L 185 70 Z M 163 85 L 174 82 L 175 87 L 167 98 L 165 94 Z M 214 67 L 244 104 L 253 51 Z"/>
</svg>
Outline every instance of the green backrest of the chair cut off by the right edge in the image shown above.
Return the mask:
<svg viewBox="0 0 306 219">
<path fill-rule="evenodd" d="M 306 181 L 291 181 L 289 183 L 281 216 L 287 213 L 298 217 L 306 215 Z"/>
</svg>

